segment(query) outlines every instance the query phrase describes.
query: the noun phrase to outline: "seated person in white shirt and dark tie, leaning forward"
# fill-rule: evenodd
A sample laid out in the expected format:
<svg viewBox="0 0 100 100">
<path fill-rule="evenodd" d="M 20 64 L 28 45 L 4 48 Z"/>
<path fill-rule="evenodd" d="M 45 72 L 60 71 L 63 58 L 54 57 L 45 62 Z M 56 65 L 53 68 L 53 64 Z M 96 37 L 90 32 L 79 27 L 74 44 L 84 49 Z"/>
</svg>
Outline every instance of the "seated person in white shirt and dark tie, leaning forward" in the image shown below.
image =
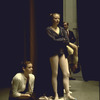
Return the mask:
<svg viewBox="0 0 100 100">
<path fill-rule="evenodd" d="M 9 100 L 33 100 L 35 76 L 32 72 L 32 63 L 25 61 L 22 64 L 22 72 L 17 73 L 12 79 Z"/>
</svg>

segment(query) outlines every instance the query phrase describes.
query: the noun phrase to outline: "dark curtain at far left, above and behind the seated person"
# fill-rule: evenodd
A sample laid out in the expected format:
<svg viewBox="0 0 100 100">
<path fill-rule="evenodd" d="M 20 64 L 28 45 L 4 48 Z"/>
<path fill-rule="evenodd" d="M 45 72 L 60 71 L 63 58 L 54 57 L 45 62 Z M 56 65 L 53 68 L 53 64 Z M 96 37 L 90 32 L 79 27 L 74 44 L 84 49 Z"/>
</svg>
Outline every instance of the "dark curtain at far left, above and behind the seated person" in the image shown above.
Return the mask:
<svg viewBox="0 0 100 100">
<path fill-rule="evenodd" d="M 29 58 L 29 2 L 0 1 L 0 86 L 11 84 L 20 63 Z"/>
</svg>

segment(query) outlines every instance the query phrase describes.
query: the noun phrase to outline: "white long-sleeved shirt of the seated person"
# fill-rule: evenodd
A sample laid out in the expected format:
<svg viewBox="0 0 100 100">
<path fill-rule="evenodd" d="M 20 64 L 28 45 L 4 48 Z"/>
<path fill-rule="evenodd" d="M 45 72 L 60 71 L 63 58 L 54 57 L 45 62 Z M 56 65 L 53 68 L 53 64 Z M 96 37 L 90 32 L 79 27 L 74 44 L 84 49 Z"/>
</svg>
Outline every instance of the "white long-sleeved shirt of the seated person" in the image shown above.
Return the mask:
<svg viewBox="0 0 100 100">
<path fill-rule="evenodd" d="M 34 89 L 34 81 L 35 76 L 33 74 L 29 74 L 29 94 L 33 93 Z M 12 88 L 10 92 L 10 97 L 19 97 L 21 92 L 23 92 L 26 88 L 27 78 L 23 73 L 17 73 L 11 82 Z"/>
</svg>

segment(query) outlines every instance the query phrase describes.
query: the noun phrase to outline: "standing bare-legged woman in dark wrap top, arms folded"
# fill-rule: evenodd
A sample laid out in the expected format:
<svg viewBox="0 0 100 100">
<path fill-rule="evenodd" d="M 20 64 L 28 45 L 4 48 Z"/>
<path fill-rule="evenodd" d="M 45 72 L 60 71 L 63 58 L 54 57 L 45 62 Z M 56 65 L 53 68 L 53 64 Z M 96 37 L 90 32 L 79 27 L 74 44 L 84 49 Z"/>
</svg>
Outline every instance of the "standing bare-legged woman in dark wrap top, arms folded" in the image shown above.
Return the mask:
<svg viewBox="0 0 100 100">
<path fill-rule="evenodd" d="M 66 45 L 69 44 L 66 31 L 63 27 L 58 26 L 60 22 L 60 14 L 50 14 L 52 25 L 47 27 L 48 55 L 52 70 L 52 86 L 55 94 L 55 100 L 59 98 L 57 92 L 57 75 L 58 65 L 63 73 L 63 86 L 66 91 L 67 98 L 75 100 L 69 93 L 69 68 L 68 68 L 68 52 Z"/>
</svg>

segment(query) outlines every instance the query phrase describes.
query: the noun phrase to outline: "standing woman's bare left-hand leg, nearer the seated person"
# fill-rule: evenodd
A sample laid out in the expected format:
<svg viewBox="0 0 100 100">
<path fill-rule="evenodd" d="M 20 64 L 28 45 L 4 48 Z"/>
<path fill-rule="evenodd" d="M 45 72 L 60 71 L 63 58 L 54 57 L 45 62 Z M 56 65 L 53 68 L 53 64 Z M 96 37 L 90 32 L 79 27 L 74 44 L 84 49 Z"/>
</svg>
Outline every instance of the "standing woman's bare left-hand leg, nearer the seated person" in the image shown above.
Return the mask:
<svg viewBox="0 0 100 100">
<path fill-rule="evenodd" d="M 52 70 L 52 86 L 55 93 L 55 99 L 58 99 L 58 93 L 57 93 L 58 63 L 59 63 L 58 55 L 50 57 L 50 64 Z"/>
</svg>

